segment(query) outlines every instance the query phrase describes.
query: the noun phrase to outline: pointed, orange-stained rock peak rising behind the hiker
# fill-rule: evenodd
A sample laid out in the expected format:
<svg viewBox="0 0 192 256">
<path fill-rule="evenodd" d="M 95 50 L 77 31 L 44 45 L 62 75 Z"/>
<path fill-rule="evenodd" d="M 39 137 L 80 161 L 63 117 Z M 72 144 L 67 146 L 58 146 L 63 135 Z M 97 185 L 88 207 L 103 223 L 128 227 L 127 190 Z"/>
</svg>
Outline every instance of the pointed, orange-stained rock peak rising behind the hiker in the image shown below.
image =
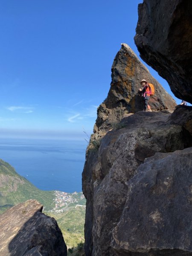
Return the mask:
<svg viewBox="0 0 192 256">
<path fill-rule="evenodd" d="M 113 61 L 111 72 L 111 88 L 97 110 L 95 134 L 103 135 L 111 128 L 111 123 L 119 122 L 125 114 L 143 110 L 143 99 L 137 93 L 142 79 L 154 84 L 155 95 L 149 101 L 153 111 L 175 109 L 175 100 L 151 76 L 127 44 L 122 44 Z"/>
</svg>

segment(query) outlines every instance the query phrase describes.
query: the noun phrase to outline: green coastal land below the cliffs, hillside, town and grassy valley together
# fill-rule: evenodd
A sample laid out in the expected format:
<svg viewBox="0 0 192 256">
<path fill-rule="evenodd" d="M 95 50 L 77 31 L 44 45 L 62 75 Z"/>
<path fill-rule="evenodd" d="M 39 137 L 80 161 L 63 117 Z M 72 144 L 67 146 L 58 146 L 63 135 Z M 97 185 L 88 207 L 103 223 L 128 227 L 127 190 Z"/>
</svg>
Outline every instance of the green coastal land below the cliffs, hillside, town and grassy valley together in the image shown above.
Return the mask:
<svg viewBox="0 0 192 256">
<path fill-rule="evenodd" d="M 82 192 L 40 190 L 0 159 L 0 214 L 29 199 L 39 201 L 43 212 L 56 219 L 68 248 L 84 242 L 86 199 Z"/>
</svg>

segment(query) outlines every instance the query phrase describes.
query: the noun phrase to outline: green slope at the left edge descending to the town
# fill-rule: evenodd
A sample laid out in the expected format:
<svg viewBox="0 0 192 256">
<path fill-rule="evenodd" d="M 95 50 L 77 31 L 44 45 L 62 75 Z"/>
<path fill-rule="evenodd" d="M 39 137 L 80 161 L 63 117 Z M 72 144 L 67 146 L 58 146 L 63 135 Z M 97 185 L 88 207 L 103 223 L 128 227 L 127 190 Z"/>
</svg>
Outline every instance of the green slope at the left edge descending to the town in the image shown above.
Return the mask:
<svg viewBox="0 0 192 256">
<path fill-rule="evenodd" d="M 54 191 L 36 188 L 26 178 L 18 175 L 9 163 L 0 159 L 0 213 L 28 199 L 38 200 L 49 210 L 54 207 L 54 198 Z"/>
</svg>

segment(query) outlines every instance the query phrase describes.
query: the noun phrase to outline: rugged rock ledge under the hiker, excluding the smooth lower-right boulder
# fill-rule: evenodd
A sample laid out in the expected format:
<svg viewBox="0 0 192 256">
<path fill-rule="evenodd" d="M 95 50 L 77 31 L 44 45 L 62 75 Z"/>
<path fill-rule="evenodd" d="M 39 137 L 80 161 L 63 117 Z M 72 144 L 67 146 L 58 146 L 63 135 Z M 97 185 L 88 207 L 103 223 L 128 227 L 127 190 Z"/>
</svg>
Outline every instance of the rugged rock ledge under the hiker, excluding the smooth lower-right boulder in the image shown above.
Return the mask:
<svg viewBox="0 0 192 256">
<path fill-rule="evenodd" d="M 146 166 L 144 164 L 146 157 L 152 157 L 157 152 L 166 154 L 191 147 L 191 120 L 192 108 L 190 107 L 177 108 L 172 114 L 166 110 L 157 112 L 140 111 L 122 119 L 125 128 L 109 131 L 102 138 L 97 152 L 87 151 L 83 172 L 83 192 L 87 198 L 85 219 L 85 252 L 87 256 L 161 255 L 158 253 L 149 254 L 148 251 L 150 249 L 145 250 L 145 253 L 148 254 L 142 254 L 144 250 L 142 249 L 143 251 L 141 252 L 138 248 L 138 250 L 131 251 L 131 247 L 126 247 L 129 244 L 129 239 L 131 239 L 129 238 L 131 231 L 129 230 L 128 236 L 125 229 L 120 228 L 118 232 L 116 229 L 119 227 L 118 223 L 122 218 L 125 222 L 129 218 L 129 215 L 126 215 L 128 211 L 125 206 L 127 204 L 126 201 L 128 201 L 130 184 L 132 184 L 132 179 L 136 177 L 135 175 L 140 171 L 140 168 L 142 169 L 141 166 Z M 190 163 L 187 166 L 190 166 Z M 177 166 L 177 162 L 175 162 L 175 165 Z M 156 172 L 156 166 L 151 166 L 154 166 L 151 172 Z M 172 166 L 174 166 L 174 163 L 172 163 Z M 191 167 L 186 171 L 186 176 L 183 173 L 183 179 L 188 179 L 187 173 L 189 171 L 192 171 Z M 150 181 L 146 180 L 147 182 Z M 138 193 L 140 191 L 139 185 L 137 191 Z M 166 194 L 163 195 L 166 197 Z M 166 198 L 163 199 L 163 195 L 162 201 L 166 201 Z M 158 197 L 158 195 L 156 196 Z M 134 201 L 134 196 L 131 200 Z M 150 209 L 151 212 L 154 211 L 151 208 L 150 201 L 145 204 L 145 208 L 146 211 L 148 209 L 148 212 Z M 161 205 L 159 205 L 159 208 L 161 209 Z M 178 209 L 180 209 L 179 206 Z M 182 216 L 183 212 L 178 211 L 178 215 Z M 136 219 L 133 219 L 133 222 L 138 223 L 141 221 L 142 225 L 142 219 L 137 219 L 138 214 L 135 210 Z M 143 231 L 144 228 L 141 232 Z M 157 228 L 157 232 L 161 231 Z M 167 237 L 168 235 L 166 234 L 165 236 Z M 140 239 L 140 236 L 138 236 L 138 239 Z M 145 246 L 147 247 L 147 244 L 143 242 L 143 247 Z M 187 247 L 184 249 L 184 247 L 185 245 L 183 245 L 182 251 L 189 250 Z M 163 247 L 162 241 L 162 247 L 160 248 L 172 250 L 174 247 L 168 248 L 166 245 Z"/>
</svg>

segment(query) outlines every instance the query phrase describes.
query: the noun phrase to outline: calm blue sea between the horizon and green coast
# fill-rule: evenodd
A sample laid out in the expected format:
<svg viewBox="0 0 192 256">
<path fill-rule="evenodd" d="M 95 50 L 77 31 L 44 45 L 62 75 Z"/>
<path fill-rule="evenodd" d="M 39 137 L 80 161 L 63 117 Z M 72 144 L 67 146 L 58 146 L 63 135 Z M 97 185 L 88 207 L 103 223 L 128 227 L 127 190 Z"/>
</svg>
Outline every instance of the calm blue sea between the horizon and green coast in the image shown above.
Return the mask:
<svg viewBox="0 0 192 256">
<path fill-rule="evenodd" d="M 43 190 L 81 192 L 83 140 L 0 139 L 0 158 Z"/>
</svg>

